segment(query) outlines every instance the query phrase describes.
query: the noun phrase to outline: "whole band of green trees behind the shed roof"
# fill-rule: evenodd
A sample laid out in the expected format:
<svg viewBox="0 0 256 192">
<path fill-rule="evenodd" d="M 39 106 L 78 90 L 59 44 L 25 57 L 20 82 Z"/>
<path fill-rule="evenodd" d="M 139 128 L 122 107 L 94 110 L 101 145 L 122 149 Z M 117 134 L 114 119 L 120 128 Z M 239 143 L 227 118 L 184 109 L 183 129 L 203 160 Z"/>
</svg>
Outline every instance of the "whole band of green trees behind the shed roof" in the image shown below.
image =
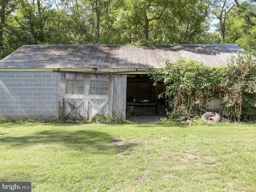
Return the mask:
<svg viewBox="0 0 256 192">
<path fill-rule="evenodd" d="M 0 58 L 24 44 L 236 43 L 255 50 L 255 38 L 255 0 L 0 0 Z"/>
</svg>

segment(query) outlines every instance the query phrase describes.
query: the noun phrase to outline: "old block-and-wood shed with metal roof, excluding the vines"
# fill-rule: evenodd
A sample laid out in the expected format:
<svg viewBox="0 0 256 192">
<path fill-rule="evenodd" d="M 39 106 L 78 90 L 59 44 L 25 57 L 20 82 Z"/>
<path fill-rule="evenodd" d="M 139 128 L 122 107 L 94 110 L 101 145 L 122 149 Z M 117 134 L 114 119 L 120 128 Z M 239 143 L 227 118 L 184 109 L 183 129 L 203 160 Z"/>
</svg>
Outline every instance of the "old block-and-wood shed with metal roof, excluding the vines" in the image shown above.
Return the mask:
<svg viewBox="0 0 256 192">
<path fill-rule="evenodd" d="M 191 58 L 227 65 L 236 44 L 24 45 L 0 61 L 0 118 L 87 120 L 98 112 L 126 118 L 164 112 L 164 90 L 147 68 Z"/>
</svg>

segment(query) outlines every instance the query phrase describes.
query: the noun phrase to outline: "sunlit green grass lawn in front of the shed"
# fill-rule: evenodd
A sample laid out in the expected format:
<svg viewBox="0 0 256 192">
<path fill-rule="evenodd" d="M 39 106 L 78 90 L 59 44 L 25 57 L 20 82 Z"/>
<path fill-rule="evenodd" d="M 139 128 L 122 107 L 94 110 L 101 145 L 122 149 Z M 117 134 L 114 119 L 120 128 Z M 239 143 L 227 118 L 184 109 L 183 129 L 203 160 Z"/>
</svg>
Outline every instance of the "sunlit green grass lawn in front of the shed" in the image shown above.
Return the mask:
<svg viewBox="0 0 256 192">
<path fill-rule="evenodd" d="M 254 192 L 256 127 L 0 124 L 0 181 L 32 192 Z"/>
</svg>

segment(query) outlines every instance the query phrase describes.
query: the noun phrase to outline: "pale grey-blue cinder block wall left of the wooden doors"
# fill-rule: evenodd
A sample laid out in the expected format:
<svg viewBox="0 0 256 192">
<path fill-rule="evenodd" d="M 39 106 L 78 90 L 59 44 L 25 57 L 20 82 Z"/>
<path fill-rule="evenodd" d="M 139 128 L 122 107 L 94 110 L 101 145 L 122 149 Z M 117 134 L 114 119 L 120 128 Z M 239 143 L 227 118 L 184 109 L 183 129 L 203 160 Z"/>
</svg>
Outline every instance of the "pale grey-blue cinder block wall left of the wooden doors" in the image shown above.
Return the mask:
<svg viewBox="0 0 256 192">
<path fill-rule="evenodd" d="M 0 71 L 0 118 L 56 120 L 57 81 L 53 71 Z"/>
</svg>

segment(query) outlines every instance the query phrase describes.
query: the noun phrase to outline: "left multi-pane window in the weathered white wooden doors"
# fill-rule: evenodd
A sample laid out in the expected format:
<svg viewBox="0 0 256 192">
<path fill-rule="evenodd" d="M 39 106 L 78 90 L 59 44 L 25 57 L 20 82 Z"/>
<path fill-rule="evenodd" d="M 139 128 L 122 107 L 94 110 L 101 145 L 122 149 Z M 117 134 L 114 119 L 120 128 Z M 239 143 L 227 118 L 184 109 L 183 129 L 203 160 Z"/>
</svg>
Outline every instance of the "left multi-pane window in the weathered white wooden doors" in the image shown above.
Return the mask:
<svg viewBox="0 0 256 192">
<path fill-rule="evenodd" d="M 84 94 L 84 80 L 67 80 L 66 93 Z"/>
</svg>

